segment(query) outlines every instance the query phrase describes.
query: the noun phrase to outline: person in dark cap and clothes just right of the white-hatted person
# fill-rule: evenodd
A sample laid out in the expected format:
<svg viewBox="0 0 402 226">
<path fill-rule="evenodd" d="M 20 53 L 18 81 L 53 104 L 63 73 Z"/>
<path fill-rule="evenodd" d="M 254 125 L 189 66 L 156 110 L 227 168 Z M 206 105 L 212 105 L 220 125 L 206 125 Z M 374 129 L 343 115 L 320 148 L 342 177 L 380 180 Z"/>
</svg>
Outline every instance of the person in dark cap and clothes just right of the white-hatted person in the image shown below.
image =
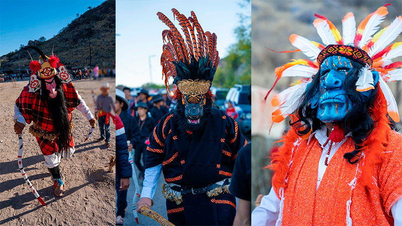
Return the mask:
<svg viewBox="0 0 402 226">
<path fill-rule="evenodd" d="M 155 121 L 152 117 L 148 116 L 148 106 L 144 102 L 139 102 L 137 105 L 137 117 L 135 117 L 136 124 L 140 128 L 140 139 L 137 141 L 137 148 L 135 150 L 134 162 L 138 169 L 141 171 L 140 178 L 144 175 L 145 165 L 145 150 L 148 146 L 149 135 L 155 128 Z M 143 164 L 141 164 L 141 154 L 143 154 Z"/>
</svg>

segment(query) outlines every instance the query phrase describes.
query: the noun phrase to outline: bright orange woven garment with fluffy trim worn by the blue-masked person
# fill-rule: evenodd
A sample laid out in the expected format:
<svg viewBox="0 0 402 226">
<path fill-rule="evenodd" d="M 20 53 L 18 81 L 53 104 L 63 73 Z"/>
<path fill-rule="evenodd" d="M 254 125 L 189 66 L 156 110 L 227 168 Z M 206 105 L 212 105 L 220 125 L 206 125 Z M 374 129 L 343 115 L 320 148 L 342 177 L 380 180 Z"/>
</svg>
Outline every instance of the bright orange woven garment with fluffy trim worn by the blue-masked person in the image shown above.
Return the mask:
<svg viewBox="0 0 402 226">
<path fill-rule="evenodd" d="M 317 191 L 320 144 L 313 137 L 308 145 L 294 129 L 283 137 L 284 145 L 273 154 L 269 166 L 275 171 L 272 186 L 276 194 L 284 187 L 282 225 L 345 225 L 349 199 L 354 225 L 393 224 L 390 208 L 402 197 L 402 136 L 388 126 L 381 90 L 376 101 L 370 109 L 374 129 L 363 142 L 359 163 L 350 164 L 343 158 L 355 148 L 348 138 L 331 159 Z M 357 185 L 352 189 L 355 176 Z"/>
</svg>

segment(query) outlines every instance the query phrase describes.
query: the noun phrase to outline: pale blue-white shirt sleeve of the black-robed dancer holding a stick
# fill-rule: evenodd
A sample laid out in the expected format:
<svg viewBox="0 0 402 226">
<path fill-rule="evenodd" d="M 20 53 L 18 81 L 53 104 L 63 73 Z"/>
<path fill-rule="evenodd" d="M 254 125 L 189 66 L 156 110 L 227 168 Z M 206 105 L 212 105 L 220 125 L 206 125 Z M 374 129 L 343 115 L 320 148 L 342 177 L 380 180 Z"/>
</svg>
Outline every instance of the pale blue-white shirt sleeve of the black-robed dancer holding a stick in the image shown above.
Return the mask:
<svg viewBox="0 0 402 226">
<path fill-rule="evenodd" d="M 152 199 L 155 192 L 156 186 L 158 185 L 158 180 L 160 174 L 162 173 L 162 164 L 148 168 L 145 170 L 144 182 L 141 191 L 141 198 L 146 197 Z"/>
</svg>

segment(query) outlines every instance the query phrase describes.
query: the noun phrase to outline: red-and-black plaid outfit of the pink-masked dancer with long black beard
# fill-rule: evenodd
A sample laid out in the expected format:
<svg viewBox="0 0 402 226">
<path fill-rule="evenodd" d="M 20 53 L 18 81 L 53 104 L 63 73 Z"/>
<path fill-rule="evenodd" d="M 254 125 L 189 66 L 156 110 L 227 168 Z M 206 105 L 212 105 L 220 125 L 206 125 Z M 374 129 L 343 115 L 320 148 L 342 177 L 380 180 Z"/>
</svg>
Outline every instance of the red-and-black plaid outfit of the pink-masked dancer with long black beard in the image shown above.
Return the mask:
<svg viewBox="0 0 402 226">
<path fill-rule="evenodd" d="M 71 111 L 78 106 L 80 100 L 72 82 L 68 84 L 62 83 L 62 85 L 64 95 L 69 104 L 68 118 L 71 121 Z M 17 98 L 16 104 L 27 124 L 34 122 L 46 132 L 55 132 L 52 117 L 47 109 L 47 102 L 40 98 L 40 91 L 28 92 L 28 85 L 25 86 Z M 36 140 L 44 155 L 51 155 L 58 151 L 57 138 L 54 141 L 49 141 L 37 137 Z M 74 141 L 71 138 L 70 147 L 73 146 Z"/>
</svg>

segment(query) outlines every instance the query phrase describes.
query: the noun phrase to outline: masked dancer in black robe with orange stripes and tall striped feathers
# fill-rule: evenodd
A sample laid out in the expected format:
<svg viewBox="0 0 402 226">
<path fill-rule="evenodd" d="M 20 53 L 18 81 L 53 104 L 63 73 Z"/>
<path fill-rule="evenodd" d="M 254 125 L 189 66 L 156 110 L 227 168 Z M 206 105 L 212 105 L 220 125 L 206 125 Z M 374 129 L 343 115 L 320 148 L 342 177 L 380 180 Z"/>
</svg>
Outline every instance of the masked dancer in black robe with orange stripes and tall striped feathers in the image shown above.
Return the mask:
<svg viewBox="0 0 402 226">
<path fill-rule="evenodd" d="M 178 33 L 165 15 L 157 14 L 171 29 L 168 32 Z M 202 30 L 194 12 L 188 21 L 188 26 Z M 184 24 L 180 23 L 183 29 Z M 149 137 L 144 186 L 137 202 L 137 211 L 142 206 L 151 208 L 163 172 L 167 217 L 175 225 L 232 225 L 236 214 L 236 198 L 229 193 L 229 184 L 237 152 L 247 141 L 236 121 L 212 107 L 210 88 L 219 56 L 215 33 L 206 34 L 208 42 L 202 35 L 193 38 L 196 51 L 187 51 L 190 42 L 175 35 L 169 42 L 187 45 L 168 48 L 161 56 L 166 89 L 170 92 L 169 78 L 177 87 L 172 95 L 177 106 L 160 119 Z M 173 45 L 169 42 L 165 45 Z"/>
</svg>

